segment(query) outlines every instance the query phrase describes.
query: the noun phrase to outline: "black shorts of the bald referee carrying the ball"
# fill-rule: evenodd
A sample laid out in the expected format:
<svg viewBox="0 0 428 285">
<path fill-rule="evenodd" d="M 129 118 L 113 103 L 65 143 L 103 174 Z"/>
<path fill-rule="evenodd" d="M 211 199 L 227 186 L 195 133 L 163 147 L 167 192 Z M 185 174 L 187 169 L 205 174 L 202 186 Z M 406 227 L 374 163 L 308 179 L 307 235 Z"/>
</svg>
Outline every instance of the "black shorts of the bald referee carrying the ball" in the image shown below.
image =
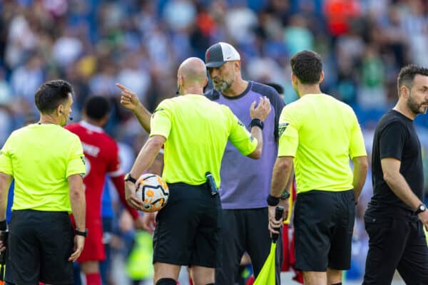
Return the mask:
<svg viewBox="0 0 428 285">
<path fill-rule="evenodd" d="M 220 261 L 221 204 L 208 187 L 168 184 L 168 203 L 156 216 L 153 263 L 215 268 Z"/>
</svg>

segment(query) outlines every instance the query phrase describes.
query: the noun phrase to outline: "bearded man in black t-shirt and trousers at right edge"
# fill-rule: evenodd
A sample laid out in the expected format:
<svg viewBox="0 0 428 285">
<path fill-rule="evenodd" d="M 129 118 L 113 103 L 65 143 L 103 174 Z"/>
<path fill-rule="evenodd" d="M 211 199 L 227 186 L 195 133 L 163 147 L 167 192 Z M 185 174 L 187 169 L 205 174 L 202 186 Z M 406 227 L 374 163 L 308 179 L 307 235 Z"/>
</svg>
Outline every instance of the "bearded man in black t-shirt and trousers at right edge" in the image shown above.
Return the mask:
<svg viewBox="0 0 428 285">
<path fill-rule="evenodd" d="M 373 139 L 374 195 L 365 212 L 369 234 L 365 285 L 391 284 L 395 269 L 406 284 L 428 284 L 428 210 L 413 120 L 428 108 L 428 68 L 405 66 L 397 78 L 398 102 L 377 124 Z"/>
</svg>

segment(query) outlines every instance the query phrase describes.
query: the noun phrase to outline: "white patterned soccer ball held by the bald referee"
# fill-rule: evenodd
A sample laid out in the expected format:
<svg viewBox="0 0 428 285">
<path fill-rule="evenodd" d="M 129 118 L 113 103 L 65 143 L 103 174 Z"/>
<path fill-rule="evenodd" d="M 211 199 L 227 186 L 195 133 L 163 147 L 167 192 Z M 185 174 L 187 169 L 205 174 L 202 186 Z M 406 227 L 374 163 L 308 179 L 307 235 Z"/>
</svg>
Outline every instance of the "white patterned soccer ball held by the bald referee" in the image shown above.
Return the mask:
<svg viewBox="0 0 428 285">
<path fill-rule="evenodd" d="M 168 185 L 156 174 L 146 173 L 136 182 L 136 196 L 143 201 L 144 212 L 156 212 L 168 202 Z"/>
</svg>

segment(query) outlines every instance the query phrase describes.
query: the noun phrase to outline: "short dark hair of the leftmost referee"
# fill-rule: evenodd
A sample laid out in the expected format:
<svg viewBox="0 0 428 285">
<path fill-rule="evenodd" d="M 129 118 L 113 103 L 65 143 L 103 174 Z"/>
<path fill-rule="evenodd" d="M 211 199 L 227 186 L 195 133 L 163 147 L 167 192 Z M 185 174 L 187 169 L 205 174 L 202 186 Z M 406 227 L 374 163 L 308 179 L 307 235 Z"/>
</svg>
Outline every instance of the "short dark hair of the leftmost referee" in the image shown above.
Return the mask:
<svg viewBox="0 0 428 285">
<path fill-rule="evenodd" d="M 46 81 L 37 89 L 34 102 L 40 113 L 50 114 L 68 100 L 68 93 L 73 94 L 73 88 L 67 81 Z"/>
</svg>

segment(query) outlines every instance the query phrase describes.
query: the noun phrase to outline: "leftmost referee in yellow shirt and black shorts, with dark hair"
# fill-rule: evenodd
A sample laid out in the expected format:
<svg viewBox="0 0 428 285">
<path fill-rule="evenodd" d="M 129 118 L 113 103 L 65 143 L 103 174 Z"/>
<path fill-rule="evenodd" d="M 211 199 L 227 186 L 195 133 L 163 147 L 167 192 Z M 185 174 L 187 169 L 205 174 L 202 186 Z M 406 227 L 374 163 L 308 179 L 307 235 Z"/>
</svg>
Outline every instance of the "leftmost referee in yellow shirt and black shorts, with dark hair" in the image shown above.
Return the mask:
<svg viewBox="0 0 428 285">
<path fill-rule="evenodd" d="M 1 148 L 1 230 L 6 229 L 7 194 L 15 180 L 6 284 L 73 284 L 73 261 L 85 244 L 86 206 L 82 145 L 62 128 L 71 113 L 72 93 L 66 81 L 44 83 L 35 96 L 39 123 L 15 130 Z"/>
</svg>

